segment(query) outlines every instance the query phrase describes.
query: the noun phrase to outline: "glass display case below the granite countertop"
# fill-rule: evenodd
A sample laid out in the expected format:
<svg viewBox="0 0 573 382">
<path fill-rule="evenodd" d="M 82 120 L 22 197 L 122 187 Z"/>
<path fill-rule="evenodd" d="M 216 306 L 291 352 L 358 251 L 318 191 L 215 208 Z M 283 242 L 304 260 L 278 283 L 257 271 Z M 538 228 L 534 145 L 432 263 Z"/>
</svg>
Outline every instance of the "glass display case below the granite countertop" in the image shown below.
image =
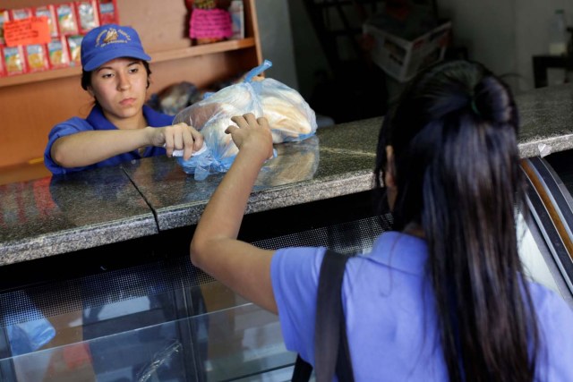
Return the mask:
<svg viewBox="0 0 573 382">
<path fill-rule="evenodd" d="M 531 211 L 517 211 L 519 248 L 528 275 L 573 306 L 571 258 L 543 194 L 565 200 L 557 204 L 565 226 L 571 186 L 560 186 L 552 160 L 524 161 Z M 310 245 L 358 253 L 389 229 L 391 217 L 372 211 L 372 191 L 359 192 L 246 215 L 239 236 L 266 249 Z M 0 293 L 0 379 L 289 380 L 296 354 L 283 344 L 278 317 L 192 266 L 192 227 L 162 235 L 161 250 L 139 239 L 18 268 L 37 277 Z M 81 271 L 70 276 L 64 266 Z"/>
</svg>

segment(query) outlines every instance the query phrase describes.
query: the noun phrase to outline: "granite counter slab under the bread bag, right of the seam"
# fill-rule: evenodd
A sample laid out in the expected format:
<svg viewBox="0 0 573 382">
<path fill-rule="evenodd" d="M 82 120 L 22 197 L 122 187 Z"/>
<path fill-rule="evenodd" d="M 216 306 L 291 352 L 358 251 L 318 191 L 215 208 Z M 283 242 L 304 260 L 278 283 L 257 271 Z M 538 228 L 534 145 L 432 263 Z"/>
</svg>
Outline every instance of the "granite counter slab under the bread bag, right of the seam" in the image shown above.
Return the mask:
<svg viewBox="0 0 573 382">
<path fill-rule="evenodd" d="M 344 123 L 276 145 L 278 156 L 261 169 L 247 213 L 369 190 L 380 126 L 381 118 Z M 124 169 L 156 211 L 159 230 L 196 224 L 223 176 L 195 181 L 175 159 L 140 162 Z"/>
</svg>

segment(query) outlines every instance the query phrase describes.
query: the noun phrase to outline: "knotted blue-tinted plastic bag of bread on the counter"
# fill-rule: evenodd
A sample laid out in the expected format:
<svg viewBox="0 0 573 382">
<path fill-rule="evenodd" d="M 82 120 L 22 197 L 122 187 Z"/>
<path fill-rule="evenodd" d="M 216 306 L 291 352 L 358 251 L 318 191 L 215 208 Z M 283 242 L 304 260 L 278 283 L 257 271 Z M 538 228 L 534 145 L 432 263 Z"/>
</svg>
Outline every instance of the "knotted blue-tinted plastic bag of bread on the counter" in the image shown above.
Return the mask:
<svg viewBox="0 0 573 382">
<path fill-rule="evenodd" d="M 225 132 L 227 126 L 234 124 L 231 117 L 235 115 L 252 113 L 255 117 L 266 117 L 273 143 L 305 140 L 316 133 L 316 115 L 295 89 L 273 79 L 253 81 L 271 65 L 265 60 L 248 72 L 243 82 L 207 94 L 175 115 L 174 124 L 184 122 L 193 126 L 203 134 L 207 146 L 201 155 L 188 160 L 177 157 L 185 173 L 202 180 L 210 173 L 227 172 L 238 153 L 231 135 Z M 200 162 L 198 175 L 195 170 Z"/>
</svg>

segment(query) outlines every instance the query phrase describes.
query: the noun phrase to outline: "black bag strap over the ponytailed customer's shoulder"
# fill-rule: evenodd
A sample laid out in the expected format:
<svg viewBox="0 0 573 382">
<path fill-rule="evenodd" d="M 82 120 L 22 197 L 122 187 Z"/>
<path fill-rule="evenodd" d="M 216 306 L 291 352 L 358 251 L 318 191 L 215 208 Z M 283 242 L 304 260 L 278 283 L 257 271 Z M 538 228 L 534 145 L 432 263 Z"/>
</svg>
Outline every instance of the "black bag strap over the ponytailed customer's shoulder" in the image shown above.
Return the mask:
<svg viewBox="0 0 573 382">
<path fill-rule="evenodd" d="M 314 359 L 317 382 L 354 381 L 346 324 L 342 310 L 342 279 L 348 256 L 327 250 L 321 264 L 314 333 Z M 308 381 L 312 366 L 297 356 L 293 381 Z"/>
</svg>

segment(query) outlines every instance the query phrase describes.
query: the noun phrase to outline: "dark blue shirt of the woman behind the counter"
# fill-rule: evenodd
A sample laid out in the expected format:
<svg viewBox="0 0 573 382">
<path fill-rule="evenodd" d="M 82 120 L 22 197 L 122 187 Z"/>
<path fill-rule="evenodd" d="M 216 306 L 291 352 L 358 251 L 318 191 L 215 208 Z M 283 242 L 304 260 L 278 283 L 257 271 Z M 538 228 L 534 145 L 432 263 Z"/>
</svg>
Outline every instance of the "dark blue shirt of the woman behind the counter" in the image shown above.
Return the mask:
<svg viewBox="0 0 573 382">
<path fill-rule="evenodd" d="M 147 123 L 151 127 L 163 127 L 168 126 L 173 123 L 173 119 L 175 118 L 174 115 L 164 115 L 161 113 L 156 112 L 149 106 L 143 106 L 143 116 L 147 120 Z M 109 157 L 106 160 L 98 162 L 94 165 L 90 166 L 83 166 L 83 167 L 72 167 L 72 168 L 64 168 L 59 166 L 52 160 L 50 155 L 50 150 L 52 149 L 52 145 L 54 142 L 66 135 L 74 134 L 76 132 L 89 132 L 95 130 L 116 130 L 115 124 L 109 122 L 107 118 L 101 112 L 101 108 L 99 106 L 94 106 L 91 109 L 90 115 L 88 118 L 82 119 L 79 117 L 73 117 L 69 120 L 58 123 L 54 126 L 51 132 L 48 134 L 48 141 L 47 147 L 44 151 L 44 164 L 46 165 L 47 169 L 52 172 L 52 174 L 69 174 L 76 171 L 88 170 L 90 168 L 96 167 L 104 167 L 104 166 L 115 166 L 123 162 L 131 161 L 133 159 L 141 159 L 141 157 L 155 157 L 158 155 L 165 155 L 166 149 L 164 148 L 156 148 L 156 147 L 147 147 L 145 152 L 141 156 L 138 150 L 133 150 L 131 152 L 127 152 L 124 154 L 117 155 L 115 157 Z"/>
</svg>

